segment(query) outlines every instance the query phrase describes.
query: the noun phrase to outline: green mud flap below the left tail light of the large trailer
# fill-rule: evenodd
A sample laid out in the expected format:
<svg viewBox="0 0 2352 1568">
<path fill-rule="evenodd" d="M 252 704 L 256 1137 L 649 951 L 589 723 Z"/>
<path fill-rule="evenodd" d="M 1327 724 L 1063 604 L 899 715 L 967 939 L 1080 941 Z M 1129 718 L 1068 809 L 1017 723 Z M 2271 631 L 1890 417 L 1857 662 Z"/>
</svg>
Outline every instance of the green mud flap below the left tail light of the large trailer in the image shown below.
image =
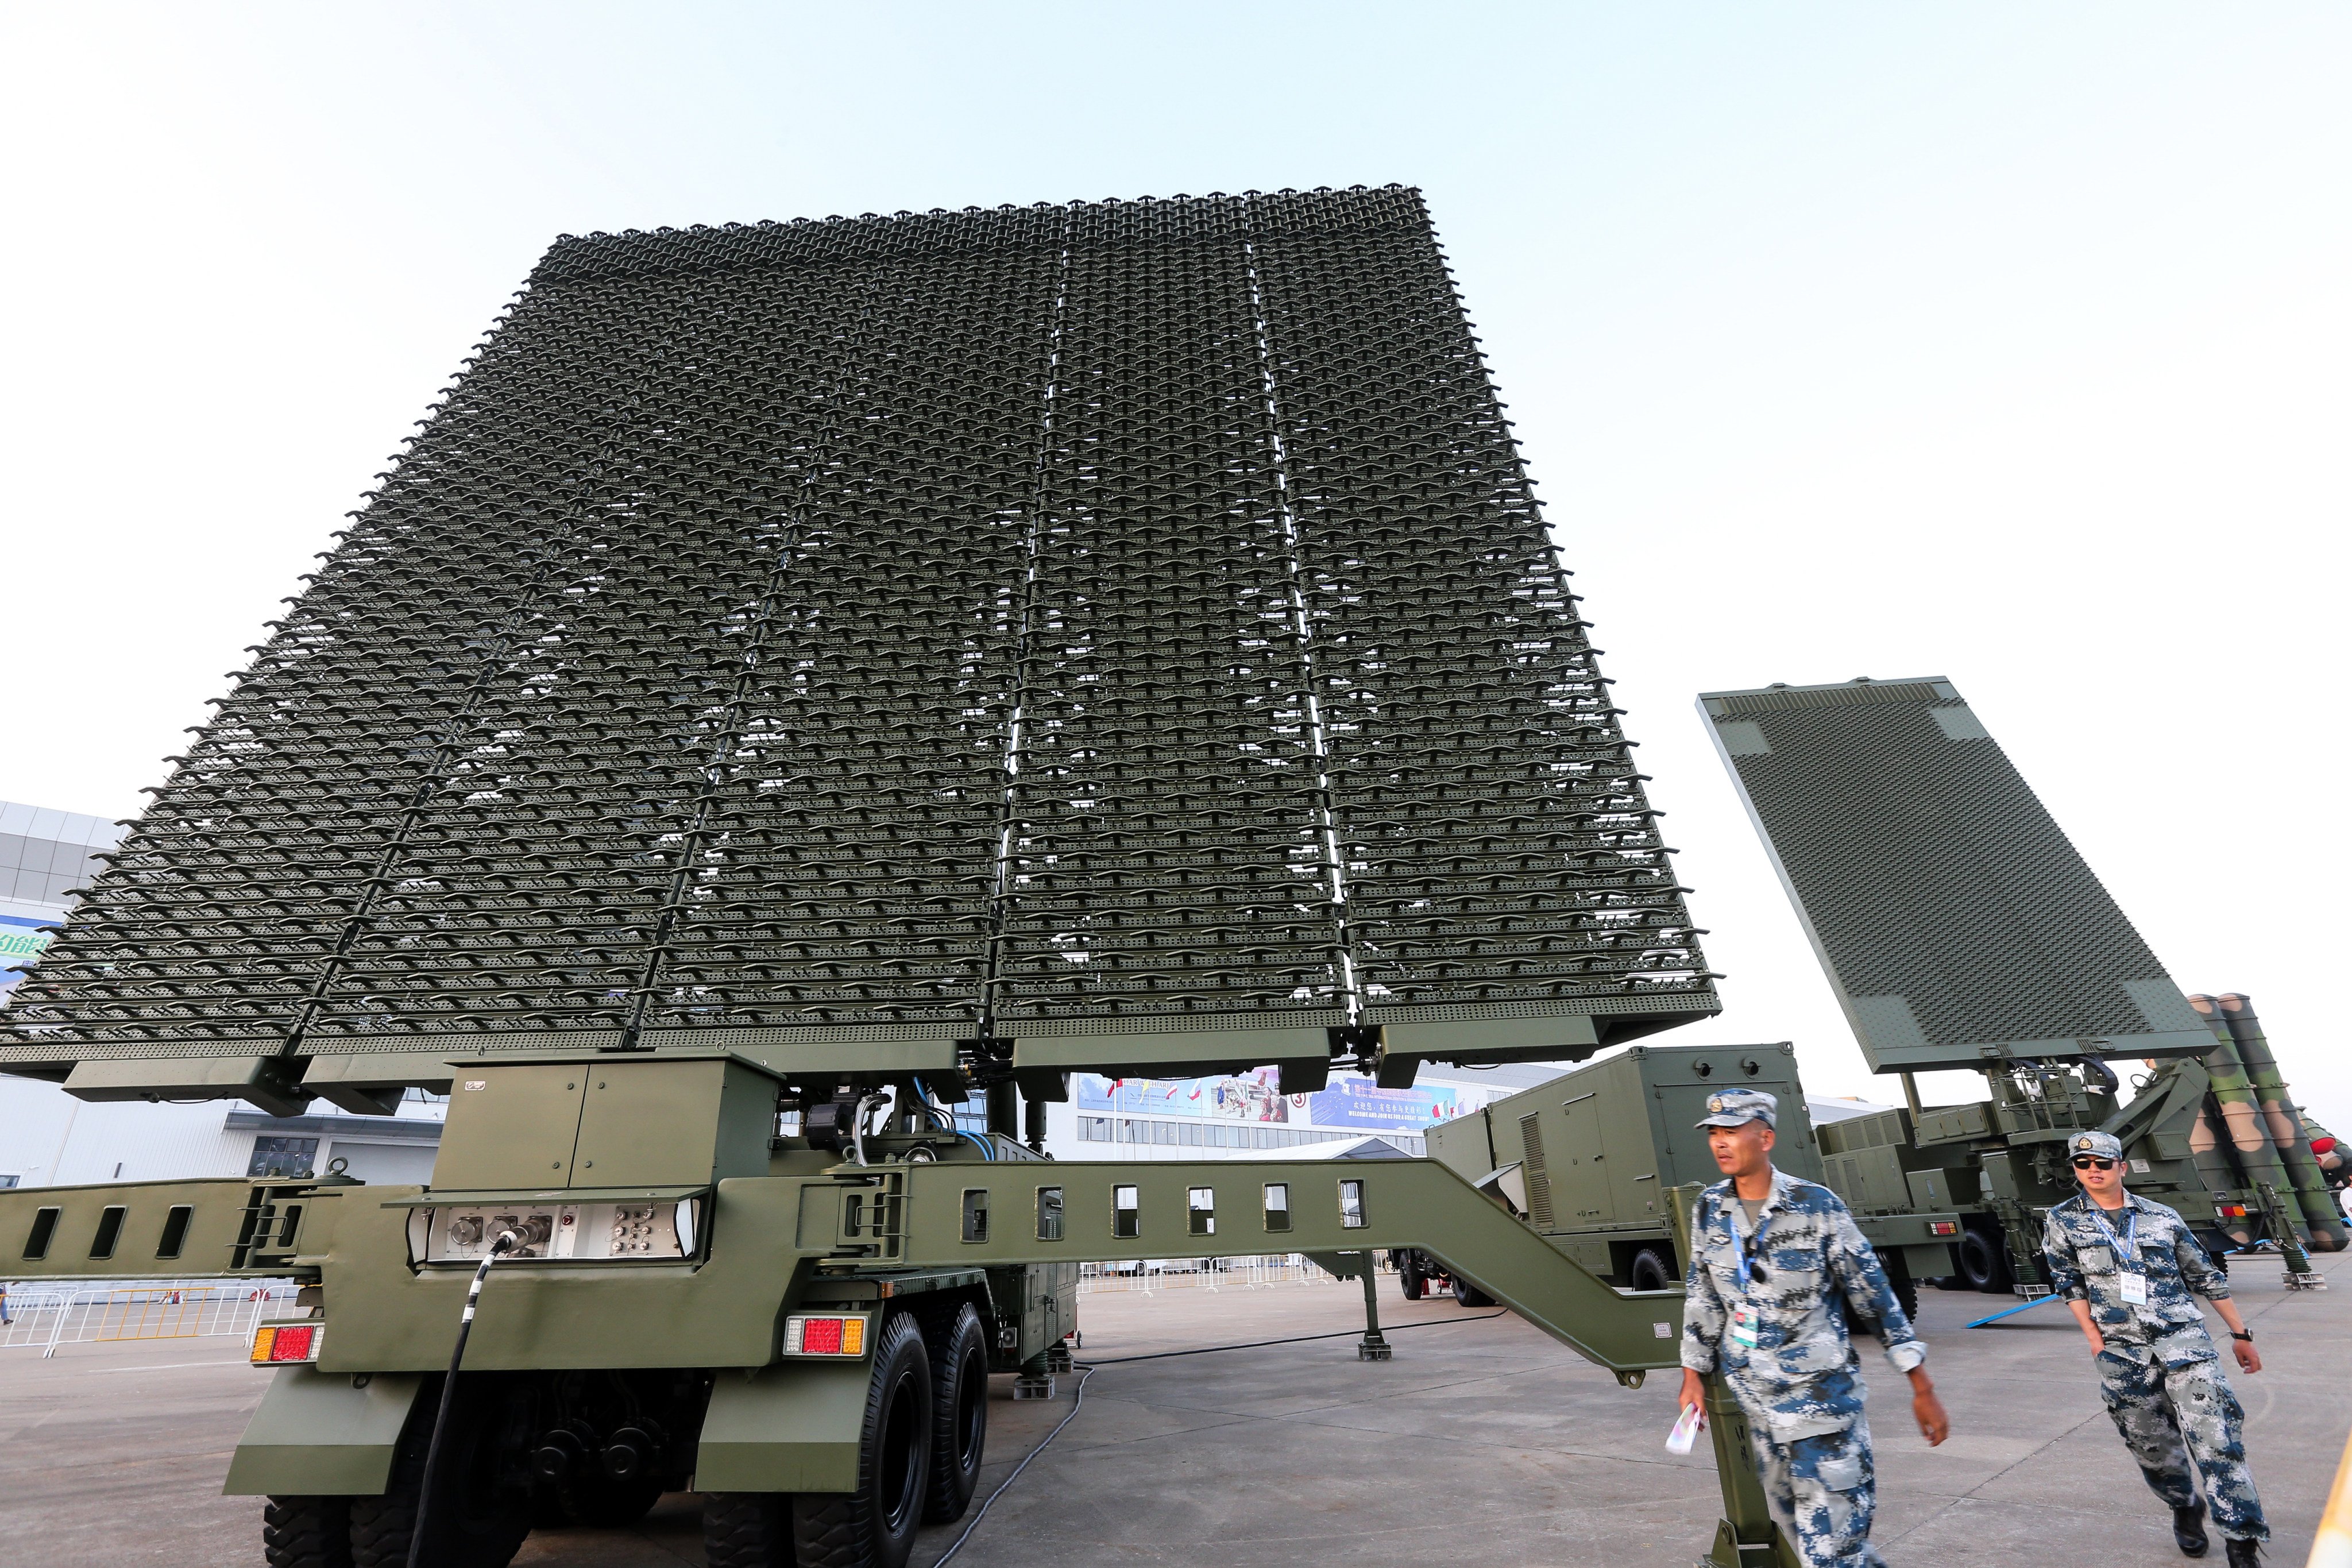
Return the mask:
<svg viewBox="0 0 2352 1568">
<path fill-rule="evenodd" d="M 419 1373 L 322 1373 L 287 1366 L 228 1462 L 228 1497 L 381 1497 Z M 353 1387 L 360 1385 L 360 1387 Z"/>
</svg>

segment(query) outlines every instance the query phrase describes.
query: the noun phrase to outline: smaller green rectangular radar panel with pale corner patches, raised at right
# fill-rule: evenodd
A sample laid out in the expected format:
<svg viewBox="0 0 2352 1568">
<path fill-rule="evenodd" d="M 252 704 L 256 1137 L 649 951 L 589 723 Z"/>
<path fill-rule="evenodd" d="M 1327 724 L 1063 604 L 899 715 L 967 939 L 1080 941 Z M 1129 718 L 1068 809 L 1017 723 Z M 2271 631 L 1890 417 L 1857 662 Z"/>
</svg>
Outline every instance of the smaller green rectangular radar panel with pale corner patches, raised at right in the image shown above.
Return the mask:
<svg viewBox="0 0 2352 1568">
<path fill-rule="evenodd" d="M 1952 682 L 1698 710 L 1872 1072 L 2213 1048 Z"/>
</svg>

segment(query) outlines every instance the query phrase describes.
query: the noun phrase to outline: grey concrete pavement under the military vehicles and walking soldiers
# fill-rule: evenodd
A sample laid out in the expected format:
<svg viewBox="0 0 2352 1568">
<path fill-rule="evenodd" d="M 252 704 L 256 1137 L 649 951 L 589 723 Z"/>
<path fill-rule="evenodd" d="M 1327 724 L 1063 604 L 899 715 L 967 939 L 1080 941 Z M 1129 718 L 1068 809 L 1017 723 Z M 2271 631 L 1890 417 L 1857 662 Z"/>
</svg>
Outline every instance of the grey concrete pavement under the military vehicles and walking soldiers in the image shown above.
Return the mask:
<svg viewBox="0 0 2352 1568">
<path fill-rule="evenodd" d="M 2277 1540 L 2298 1566 L 2352 1429 L 2352 1274 L 2286 1293 L 2267 1258 L 2234 1286 L 2267 1371 L 2234 1378 Z M 1891 1563 L 2180 1563 L 2169 1516 L 2140 1483 L 2063 1307 L 1964 1331 L 1994 1298 L 1929 1291 L 1922 1331 L 1952 1410 L 1926 1448 L 1900 1380 L 1877 1389 L 1877 1544 Z M 1710 1540 L 1717 1486 L 1705 1443 L 1663 1450 L 1675 1380 L 1621 1389 L 1512 1316 L 1406 1305 L 1388 1284 L 1395 1361 L 1355 1361 L 1352 1286 L 1176 1288 L 1089 1295 L 1082 1359 L 1098 1371 L 1077 1420 L 997 1502 L 957 1568 L 1101 1563 L 1345 1563 L 1482 1568 L 1628 1563 L 1682 1568 Z M 1134 1361 L 1282 1335 L 1341 1338 Z M 263 1373 L 223 1340 L 75 1345 L 52 1361 L 0 1352 L 0 1559 L 24 1563 L 261 1561 L 259 1502 L 219 1476 Z M 997 1380 L 983 1495 L 1063 1415 L 1014 1403 Z M 927 1530 L 927 1568 L 962 1526 Z M 694 1497 L 666 1497 L 630 1530 L 534 1535 L 517 1563 L 699 1563 Z M 2216 1559 L 2218 1561 L 2218 1549 Z"/>
</svg>

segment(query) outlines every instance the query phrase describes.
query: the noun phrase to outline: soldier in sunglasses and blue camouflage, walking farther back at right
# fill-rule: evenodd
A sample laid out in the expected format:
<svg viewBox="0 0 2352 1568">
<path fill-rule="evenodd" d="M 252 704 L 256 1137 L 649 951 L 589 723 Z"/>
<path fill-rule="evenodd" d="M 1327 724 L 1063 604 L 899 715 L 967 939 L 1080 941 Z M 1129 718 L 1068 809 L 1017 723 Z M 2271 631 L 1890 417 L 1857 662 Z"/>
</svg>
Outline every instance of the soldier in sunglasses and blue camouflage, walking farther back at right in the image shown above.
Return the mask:
<svg viewBox="0 0 2352 1568">
<path fill-rule="evenodd" d="M 2178 1213 L 2124 1192 L 2124 1145 L 2112 1133 L 2067 1138 L 2082 1192 L 2042 1222 L 2051 1288 L 2065 1298 L 2098 1356 L 2098 1394 L 2140 1462 L 2150 1490 L 2173 1509 L 2173 1540 L 2204 1556 L 2204 1514 L 2232 1563 L 2253 1563 L 2270 1540 L 2246 1472 L 2246 1413 L 2220 1371 L 2197 1295 L 2230 1324 L 2237 1363 L 2263 1371 L 2230 1286 Z M 2204 1476 L 2197 1500 L 2190 1465 Z"/>
</svg>

